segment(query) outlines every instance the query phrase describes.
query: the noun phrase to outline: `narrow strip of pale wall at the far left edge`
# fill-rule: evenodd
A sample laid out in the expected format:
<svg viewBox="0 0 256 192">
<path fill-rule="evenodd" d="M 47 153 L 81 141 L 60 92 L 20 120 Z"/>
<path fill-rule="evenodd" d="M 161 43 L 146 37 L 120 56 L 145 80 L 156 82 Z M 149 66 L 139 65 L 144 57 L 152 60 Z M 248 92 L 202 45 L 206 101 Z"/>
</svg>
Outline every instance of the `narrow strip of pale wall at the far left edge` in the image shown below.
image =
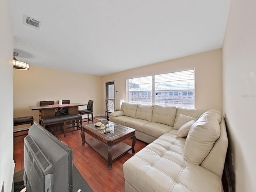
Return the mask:
<svg viewBox="0 0 256 192">
<path fill-rule="evenodd" d="M 0 0 L 0 190 L 12 190 L 13 160 L 13 33 L 7 0 Z"/>
</svg>

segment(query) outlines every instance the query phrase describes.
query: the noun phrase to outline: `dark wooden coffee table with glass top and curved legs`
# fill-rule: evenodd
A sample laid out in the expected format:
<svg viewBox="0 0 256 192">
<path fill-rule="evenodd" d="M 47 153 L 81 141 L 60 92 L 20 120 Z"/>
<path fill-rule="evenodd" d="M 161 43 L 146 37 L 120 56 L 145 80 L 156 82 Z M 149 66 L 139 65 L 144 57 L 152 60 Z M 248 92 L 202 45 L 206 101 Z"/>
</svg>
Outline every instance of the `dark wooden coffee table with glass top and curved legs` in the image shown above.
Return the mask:
<svg viewBox="0 0 256 192">
<path fill-rule="evenodd" d="M 132 150 L 132 152 L 135 153 L 135 129 L 106 120 L 101 122 L 105 125 L 109 124 L 111 132 L 105 133 L 104 129 L 95 126 L 95 124 L 83 125 L 81 131 L 82 145 L 84 145 L 84 143 L 88 144 L 93 150 L 108 161 L 108 169 L 112 169 L 112 161 L 116 160 L 129 150 Z M 89 134 L 92 138 L 85 139 L 84 133 Z M 123 142 L 128 138 L 132 138 L 132 146 Z"/>
</svg>

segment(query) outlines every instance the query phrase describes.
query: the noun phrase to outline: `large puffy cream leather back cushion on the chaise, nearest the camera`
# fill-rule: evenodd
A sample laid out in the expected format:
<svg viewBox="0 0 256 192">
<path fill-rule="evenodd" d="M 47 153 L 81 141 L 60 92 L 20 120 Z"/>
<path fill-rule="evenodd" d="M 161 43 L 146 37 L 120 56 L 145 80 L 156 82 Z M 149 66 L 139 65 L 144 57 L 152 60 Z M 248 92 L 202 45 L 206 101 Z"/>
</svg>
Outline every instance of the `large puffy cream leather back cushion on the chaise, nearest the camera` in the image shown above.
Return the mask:
<svg viewBox="0 0 256 192">
<path fill-rule="evenodd" d="M 220 137 L 221 113 L 209 110 L 191 126 L 184 146 L 184 158 L 199 165 Z"/>
</svg>

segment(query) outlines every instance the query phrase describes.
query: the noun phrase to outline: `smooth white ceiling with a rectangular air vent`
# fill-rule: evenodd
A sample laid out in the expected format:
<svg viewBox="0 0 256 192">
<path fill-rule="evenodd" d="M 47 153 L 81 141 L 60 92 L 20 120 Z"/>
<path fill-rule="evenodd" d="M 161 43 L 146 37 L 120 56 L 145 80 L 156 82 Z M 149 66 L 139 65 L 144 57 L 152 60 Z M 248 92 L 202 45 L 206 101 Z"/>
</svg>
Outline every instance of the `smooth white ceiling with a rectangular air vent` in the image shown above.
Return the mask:
<svg viewBox="0 0 256 192">
<path fill-rule="evenodd" d="M 230 0 L 9 0 L 16 59 L 106 75 L 222 48 Z M 40 30 L 23 16 L 41 21 Z"/>
</svg>

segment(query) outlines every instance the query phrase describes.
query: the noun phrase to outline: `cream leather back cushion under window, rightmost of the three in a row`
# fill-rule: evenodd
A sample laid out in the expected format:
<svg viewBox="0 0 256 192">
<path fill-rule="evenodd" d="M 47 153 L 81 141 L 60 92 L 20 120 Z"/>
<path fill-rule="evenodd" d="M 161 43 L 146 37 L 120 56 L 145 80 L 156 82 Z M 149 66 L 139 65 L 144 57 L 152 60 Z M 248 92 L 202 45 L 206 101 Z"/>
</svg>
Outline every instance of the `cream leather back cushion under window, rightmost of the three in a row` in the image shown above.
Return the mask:
<svg viewBox="0 0 256 192">
<path fill-rule="evenodd" d="M 154 105 L 152 122 L 174 126 L 176 107 Z"/>
</svg>

